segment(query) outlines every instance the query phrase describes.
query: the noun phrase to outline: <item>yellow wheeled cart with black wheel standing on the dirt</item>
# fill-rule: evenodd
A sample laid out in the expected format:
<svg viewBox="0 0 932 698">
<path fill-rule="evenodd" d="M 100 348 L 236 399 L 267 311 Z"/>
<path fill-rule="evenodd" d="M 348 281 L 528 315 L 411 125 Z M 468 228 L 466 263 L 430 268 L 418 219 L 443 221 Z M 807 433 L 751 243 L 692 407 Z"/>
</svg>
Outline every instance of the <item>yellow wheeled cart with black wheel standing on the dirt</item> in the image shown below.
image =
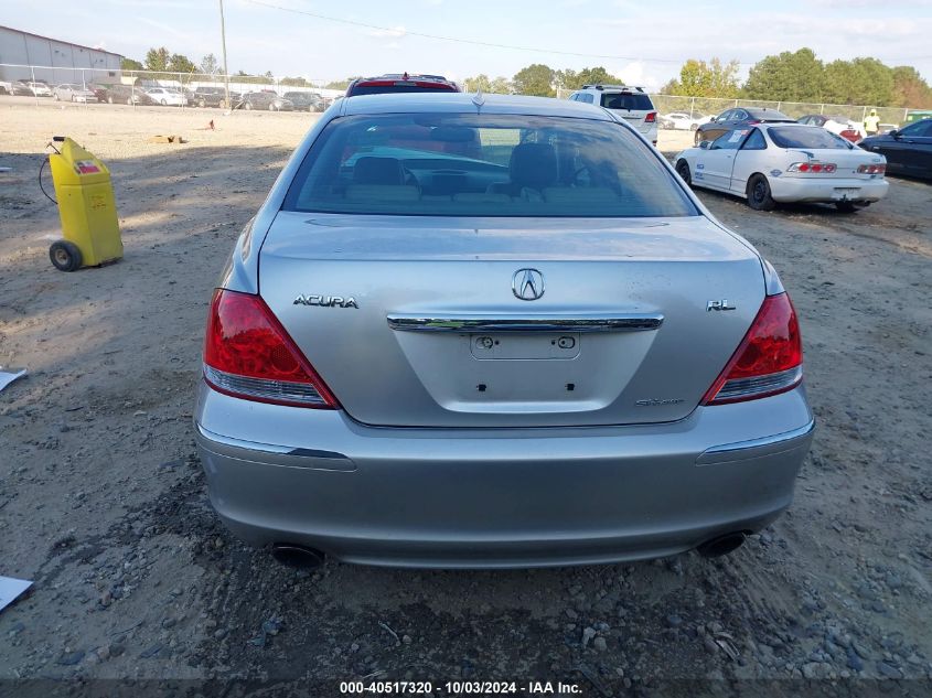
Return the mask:
<svg viewBox="0 0 932 698">
<path fill-rule="evenodd" d="M 74 271 L 120 259 L 122 240 L 110 171 L 71 138 L 55 136 L 52 141 L 55 152 L 49 155 L 49 164 L 65 237 L 49 248 L 52 264 Z"/>
</svg>

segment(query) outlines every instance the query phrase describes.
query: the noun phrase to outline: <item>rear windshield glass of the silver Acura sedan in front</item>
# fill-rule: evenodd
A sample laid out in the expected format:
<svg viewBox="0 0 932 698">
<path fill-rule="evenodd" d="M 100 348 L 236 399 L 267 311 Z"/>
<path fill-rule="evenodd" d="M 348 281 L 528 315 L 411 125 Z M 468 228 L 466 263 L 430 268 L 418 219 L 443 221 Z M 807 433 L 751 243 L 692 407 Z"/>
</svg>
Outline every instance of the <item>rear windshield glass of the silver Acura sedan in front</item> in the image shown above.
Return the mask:
<svg viewBox="0 0 932 698">
<path fill-rule="evenodd" d="M 660 157 L 612 121 L 517 115 L 334 119 L 286 211 L 431 216 L 697 215 Z"/>
</svg>

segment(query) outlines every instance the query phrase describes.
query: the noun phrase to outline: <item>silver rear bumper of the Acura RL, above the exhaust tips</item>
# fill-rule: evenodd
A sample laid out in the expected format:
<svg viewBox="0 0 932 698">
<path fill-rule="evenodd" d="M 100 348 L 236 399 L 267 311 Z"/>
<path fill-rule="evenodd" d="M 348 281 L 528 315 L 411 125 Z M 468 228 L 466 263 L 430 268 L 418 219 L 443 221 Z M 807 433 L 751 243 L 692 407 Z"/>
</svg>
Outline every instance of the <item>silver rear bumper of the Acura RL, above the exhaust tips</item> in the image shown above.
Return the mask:
<svg viewBox="0 0 932 698">
<path fill-rule="evenodd" d="M 257 544 L 351 562 L 535 567 L 662 557 L 790 505 L 813 421 L 803 388 L 651 427 L 373 428 L 202 385 L 211 501 Z"/>
</svg>

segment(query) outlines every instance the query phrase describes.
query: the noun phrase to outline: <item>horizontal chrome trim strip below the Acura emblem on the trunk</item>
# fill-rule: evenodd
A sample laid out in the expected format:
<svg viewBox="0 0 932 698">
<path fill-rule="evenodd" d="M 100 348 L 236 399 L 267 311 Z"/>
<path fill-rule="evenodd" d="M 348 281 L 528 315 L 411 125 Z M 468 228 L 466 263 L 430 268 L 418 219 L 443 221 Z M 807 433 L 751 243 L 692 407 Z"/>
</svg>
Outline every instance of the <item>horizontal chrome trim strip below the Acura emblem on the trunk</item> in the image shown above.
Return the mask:
<svg viewBox="0 0 932 698">
<path fill-rule="evenodd" d="M 399 332 L 642 332 L 663 324 L 660 313 L 603 315 L 582 314 L 551 318 L 546 315 L 461 315 L 425 318 L 388 315 L 388 326 Z"/>
</svg>

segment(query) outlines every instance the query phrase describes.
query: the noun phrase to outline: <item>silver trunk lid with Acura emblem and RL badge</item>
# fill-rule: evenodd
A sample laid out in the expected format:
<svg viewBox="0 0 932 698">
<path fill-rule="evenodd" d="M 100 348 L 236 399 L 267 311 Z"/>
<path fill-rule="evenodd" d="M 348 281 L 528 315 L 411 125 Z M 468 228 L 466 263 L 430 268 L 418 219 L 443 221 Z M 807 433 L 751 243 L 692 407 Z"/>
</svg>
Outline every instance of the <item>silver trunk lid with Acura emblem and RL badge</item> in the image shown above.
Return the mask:
<svg viewBox="0 0 932 698">
<path fill-rule="evenodd" d="M 764 296 L 754 251 L 701 216 L 281 212 L 259 281 L 346 412 L 393 427 L 682 419 Z"/>
</svg>

